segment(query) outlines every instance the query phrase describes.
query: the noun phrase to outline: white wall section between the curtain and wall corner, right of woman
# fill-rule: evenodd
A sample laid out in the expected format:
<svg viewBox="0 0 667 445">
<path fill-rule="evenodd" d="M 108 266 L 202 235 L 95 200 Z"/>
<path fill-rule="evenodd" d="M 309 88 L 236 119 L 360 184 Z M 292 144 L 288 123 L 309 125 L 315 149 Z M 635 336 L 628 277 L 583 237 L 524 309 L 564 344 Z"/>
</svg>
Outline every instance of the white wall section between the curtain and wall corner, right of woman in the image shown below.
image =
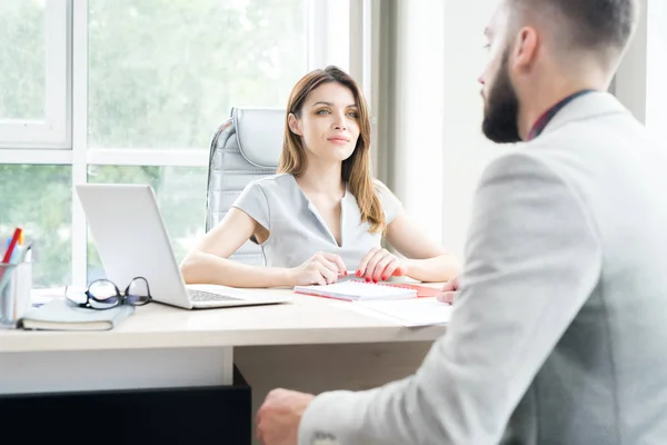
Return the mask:
<svg viewBox="0 0 667 445">
<path fill-rule="evenodd" d="M 444 2 L 398 0 L 394 191 L 440 241 L 442 227 Z"/>
</svg>

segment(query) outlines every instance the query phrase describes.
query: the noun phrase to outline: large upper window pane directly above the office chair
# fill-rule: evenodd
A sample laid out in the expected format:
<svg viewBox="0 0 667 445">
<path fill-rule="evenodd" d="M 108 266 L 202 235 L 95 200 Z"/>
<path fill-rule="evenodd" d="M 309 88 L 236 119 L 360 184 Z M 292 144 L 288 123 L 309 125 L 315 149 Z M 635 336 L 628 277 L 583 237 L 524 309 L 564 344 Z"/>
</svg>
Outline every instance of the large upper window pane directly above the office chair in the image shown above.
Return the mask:
<svg viewBox="0 0 667 445">
<path fill-rule="evenodd" d="M 91 148 L 206 149 L 232 106 L 285 107 L 306 70 L 303 0 L 88 4 Z"/>
</svg>

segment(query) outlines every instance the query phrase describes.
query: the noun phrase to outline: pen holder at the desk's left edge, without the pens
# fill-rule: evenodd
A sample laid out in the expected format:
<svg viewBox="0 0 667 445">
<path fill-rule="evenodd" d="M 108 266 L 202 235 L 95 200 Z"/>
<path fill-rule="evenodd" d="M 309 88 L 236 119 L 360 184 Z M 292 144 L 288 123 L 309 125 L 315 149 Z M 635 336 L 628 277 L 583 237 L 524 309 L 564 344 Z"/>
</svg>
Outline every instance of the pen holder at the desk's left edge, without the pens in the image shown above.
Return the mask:
<svg viewBox="0 0 667 445">
<path fill-rule="evenodd" d="M 32 261 L 0 263 L 0 328 L 12 328 L 30 309 Z"/>
</svg>

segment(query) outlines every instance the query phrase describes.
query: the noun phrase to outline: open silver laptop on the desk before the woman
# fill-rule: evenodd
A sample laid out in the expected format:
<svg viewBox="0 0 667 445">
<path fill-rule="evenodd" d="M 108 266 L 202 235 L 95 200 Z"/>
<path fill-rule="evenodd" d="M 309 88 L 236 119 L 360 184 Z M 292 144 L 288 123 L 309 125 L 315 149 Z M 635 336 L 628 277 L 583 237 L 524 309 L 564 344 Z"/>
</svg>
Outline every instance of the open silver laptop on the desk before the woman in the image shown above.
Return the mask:
<svg viewBox="0 0 667 445">
<path fill-rule="evenodd" d="M 119 289 L 145 277 L 156 301 L 186 309 L 290 300 L 261 289 L 186 285 L 149 185 L 86 184 L 76 189 L 107 278 Z"/>
</svg>

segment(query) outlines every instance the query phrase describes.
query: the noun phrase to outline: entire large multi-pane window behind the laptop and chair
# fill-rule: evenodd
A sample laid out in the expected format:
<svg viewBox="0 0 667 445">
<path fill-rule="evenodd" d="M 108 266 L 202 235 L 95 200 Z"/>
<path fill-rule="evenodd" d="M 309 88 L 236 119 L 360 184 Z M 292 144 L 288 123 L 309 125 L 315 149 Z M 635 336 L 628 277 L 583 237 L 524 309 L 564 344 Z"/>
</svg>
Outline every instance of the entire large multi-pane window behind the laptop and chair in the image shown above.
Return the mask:
<svg viewBox="0 0 667 445">
<path fill-rule="evenodd" d="M 210 138 L 231 107 L 285 107 L 330 48 L 345 66 L 348 42 L 315 27 L 322 4 L 0 2 L 0 234 L 34 240 L 34 286 L 103 274 L 73 194 L 86 181 L 150 184 L 180 260 L 203 234 Z"/>
</svg>

